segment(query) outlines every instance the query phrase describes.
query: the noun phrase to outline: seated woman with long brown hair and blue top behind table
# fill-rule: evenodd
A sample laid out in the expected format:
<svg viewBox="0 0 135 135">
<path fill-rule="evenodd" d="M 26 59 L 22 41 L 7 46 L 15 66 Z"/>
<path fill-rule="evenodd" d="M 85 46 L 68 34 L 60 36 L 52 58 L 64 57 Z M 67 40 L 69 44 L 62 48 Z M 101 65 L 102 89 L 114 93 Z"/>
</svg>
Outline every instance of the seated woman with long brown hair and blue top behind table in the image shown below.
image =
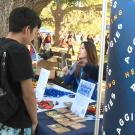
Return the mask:
<svg viewBox="0 0 135 135">
<path fill-rule="evenodd" d="M 77 62 L 68 69 L 63 68 L 65 85 L 72 84 L 76 92 L 81 79 L 97 83 L 98 81 L 98 57 L 96 47 L 93 42 L 83 42 L 81 44 Z M 97 90 L 95 88 L 92 99 L 96 100 Z"/>
</svg>

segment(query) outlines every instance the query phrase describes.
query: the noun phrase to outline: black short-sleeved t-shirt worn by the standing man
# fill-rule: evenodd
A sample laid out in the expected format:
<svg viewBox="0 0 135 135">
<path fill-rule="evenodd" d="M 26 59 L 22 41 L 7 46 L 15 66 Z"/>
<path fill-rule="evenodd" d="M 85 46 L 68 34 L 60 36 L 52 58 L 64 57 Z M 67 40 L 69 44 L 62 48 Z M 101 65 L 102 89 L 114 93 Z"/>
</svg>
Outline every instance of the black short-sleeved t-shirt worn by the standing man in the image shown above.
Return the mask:
<svg viewBox="0 0 135 135">
<path fill-rule="evenodd" d="M 25 45 L 7 38 L 1 38 L 0 45 L 8 46 L 7 78 L 20 103 L 14 116 L 3 124 L 13 128 L 29 128 L 32 123 L 22 99 L 22 89 L 20 84 L 22 80 L 33 77 L 32 61 L 29 50 Z"/>
</svg>

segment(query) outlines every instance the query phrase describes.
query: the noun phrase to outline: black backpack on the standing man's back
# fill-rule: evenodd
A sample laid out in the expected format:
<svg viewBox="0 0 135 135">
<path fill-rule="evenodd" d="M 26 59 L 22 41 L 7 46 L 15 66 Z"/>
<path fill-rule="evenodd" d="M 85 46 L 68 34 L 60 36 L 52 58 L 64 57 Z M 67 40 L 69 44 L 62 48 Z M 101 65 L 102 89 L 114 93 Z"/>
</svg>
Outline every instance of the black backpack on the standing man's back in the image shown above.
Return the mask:
<svg viewBox="0 0 135 135">
<path fill-rule="evenodd" d="M 18 99 L 7 79 L 7 45 L 0 46 L 0 122 L 6 122 L 18 109 Z"/>
</svg>

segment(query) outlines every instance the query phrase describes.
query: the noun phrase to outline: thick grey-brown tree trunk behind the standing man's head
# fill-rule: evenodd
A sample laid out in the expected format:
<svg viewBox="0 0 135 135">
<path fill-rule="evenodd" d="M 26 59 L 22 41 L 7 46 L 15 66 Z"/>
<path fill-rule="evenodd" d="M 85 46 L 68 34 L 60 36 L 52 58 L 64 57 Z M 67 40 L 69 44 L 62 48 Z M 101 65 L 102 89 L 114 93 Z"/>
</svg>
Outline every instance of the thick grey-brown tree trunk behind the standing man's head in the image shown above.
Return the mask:
<svg viewBox="0 0 135 135">
<path fill-rule="evenodd" d="M 52 0 L 0 0 L 0 37 L 8 33 L 8 17 L 10 12 L 20 6 L 33 8 L 38 14 Z"/>
</svg>

